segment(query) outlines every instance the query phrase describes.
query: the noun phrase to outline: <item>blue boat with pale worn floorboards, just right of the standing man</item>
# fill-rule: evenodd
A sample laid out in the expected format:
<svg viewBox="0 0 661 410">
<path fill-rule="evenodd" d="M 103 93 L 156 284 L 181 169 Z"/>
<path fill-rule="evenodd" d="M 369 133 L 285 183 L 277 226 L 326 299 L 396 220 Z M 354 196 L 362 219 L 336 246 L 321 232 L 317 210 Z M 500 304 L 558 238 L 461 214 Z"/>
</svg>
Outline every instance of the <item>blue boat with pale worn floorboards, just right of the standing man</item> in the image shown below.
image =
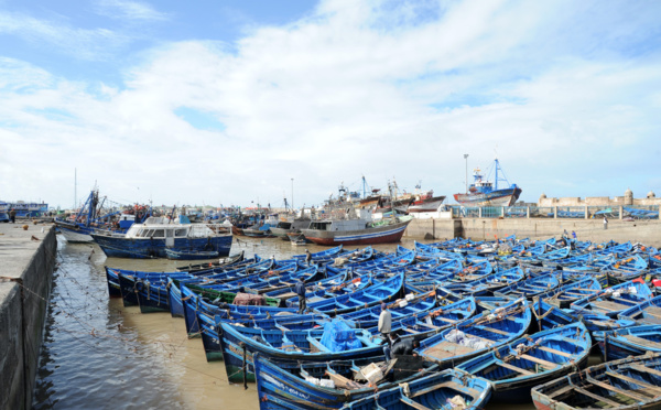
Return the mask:
<svg viewBox="0 0 661 410">
<path fill-rule="evenodd" d="M 529 306 L 528 301 L 521 299 L 484 312 L 423 339 L 416 352 L 441 368 L 454 367 L 523 335 L 531 322 Z"/>
</svg>

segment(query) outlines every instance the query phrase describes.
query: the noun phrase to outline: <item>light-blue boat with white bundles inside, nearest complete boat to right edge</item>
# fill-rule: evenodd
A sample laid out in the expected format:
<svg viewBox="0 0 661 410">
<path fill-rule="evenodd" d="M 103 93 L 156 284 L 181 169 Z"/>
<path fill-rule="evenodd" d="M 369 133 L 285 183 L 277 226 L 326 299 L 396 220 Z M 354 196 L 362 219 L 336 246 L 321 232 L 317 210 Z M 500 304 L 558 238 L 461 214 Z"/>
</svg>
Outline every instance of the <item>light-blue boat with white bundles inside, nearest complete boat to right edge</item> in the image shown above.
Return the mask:
<svg viewBox="0 0 661 410">
<path fill-rule="evenodd" d="M 576 312 L 594 312 L 616 317 L 621 311 L 652 299 L 650 288 L 642 281 L 629 281 L 607 288 L 597 294 L 579 299 L 571 304 Z"/>
</svg>

